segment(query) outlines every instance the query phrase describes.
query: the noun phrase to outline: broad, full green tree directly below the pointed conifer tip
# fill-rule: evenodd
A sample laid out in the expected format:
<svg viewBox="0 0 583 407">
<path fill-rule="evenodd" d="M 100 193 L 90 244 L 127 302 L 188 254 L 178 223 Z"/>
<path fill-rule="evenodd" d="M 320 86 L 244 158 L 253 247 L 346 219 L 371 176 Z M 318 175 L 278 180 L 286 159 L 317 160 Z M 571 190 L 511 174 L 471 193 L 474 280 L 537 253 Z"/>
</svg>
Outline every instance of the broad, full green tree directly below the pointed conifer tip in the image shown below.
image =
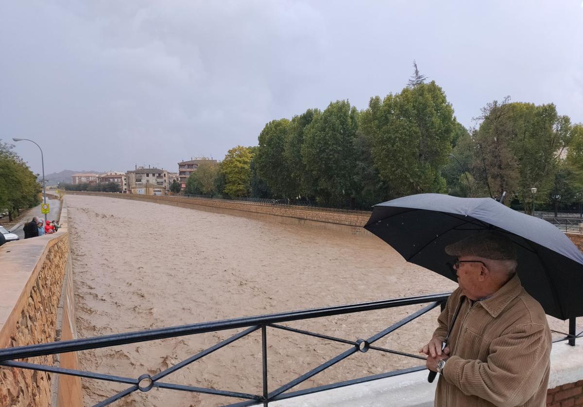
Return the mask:
<svg viewBox="0 0 583 407">
<path fill-rule="evenodd" d="M 361 120 L 374 165 L 391 198 L 447 191 L 441 169 L 454 136 L 454 110 L 434 81 L 373 97 Z"/>
</svg>

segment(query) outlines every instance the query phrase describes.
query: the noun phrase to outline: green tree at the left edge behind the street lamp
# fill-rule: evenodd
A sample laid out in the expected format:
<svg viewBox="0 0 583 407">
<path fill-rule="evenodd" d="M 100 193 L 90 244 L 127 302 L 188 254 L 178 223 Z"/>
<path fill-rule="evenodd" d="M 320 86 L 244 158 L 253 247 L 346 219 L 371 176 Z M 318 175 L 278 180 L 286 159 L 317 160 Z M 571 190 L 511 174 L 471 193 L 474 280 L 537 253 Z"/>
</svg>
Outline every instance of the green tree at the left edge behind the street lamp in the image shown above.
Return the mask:
<svg viewBox="0 0 583 407">
<path fill-rule="evenodd" d="M 0 211 L 8 211 L 10 220 L 21 208 L 38 205 L 41 191 L 37 176 L 12 148 L 0 141 Z"/>
</svg>

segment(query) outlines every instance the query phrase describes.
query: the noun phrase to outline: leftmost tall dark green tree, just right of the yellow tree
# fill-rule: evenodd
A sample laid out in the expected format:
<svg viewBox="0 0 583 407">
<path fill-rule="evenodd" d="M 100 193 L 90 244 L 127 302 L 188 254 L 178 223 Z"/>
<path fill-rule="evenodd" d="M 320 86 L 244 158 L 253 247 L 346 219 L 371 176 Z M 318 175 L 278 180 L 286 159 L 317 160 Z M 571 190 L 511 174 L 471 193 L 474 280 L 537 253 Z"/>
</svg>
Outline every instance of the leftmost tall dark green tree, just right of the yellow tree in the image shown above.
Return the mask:
<svg viewBox="0 0 583 407">
<path fill-rule="evenodd" d="M 284 151 L 290 125 L 287 119 L 272 120 L 259 134 L 257 150 L 253 159 L 257 176 L 265 180 L 274 195 L 287 197 L 293 191 L 293 178 L 287 167 Z"/>
</svg>

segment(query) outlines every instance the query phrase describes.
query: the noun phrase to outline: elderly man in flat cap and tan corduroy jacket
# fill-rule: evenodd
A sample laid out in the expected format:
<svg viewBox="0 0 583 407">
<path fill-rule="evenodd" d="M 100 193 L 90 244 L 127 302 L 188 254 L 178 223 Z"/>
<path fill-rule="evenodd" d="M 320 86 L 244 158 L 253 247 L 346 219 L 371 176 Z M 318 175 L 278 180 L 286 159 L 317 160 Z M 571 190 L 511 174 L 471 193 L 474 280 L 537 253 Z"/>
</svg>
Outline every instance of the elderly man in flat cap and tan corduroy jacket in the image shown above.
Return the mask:
<svg viewBox="0 0 583 407">
<path fill-rule="evenodd" d="M 482 231 L 445 252 L 456 257 L 459 287 L 420 349 L 427 369 L 440 373 L 435 405 L 544 406 L 551 334 L 545 311 L 518 279 L 514 243 Z"/>
</svg>

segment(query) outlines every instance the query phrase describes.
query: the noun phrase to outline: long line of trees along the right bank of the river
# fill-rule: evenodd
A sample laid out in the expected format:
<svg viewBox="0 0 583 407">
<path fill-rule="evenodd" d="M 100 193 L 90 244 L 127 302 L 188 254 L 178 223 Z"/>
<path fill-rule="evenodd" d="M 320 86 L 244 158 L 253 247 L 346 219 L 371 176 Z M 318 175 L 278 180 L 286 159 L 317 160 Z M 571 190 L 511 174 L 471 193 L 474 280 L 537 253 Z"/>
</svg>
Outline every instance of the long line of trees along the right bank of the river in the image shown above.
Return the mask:
<svg viewBox="0 0 583 407">
<path fill-rule="evenodd" d="M 533 187 L 538 205 L 583 200 L 583 125 L 571 125 L 554 104 L 506 97 L 487 103 L 475 122 L 466 129 L 456 121 L 444 90 L 413 61 L 408 85 L 371 97 L 364 110 L 337 100 L 268 122 L 258 146 L 229 150 L 215 188 L 362 209 L 423 192 L 507 192 L 505 203 L 528 212 Z"/>
</svg>

